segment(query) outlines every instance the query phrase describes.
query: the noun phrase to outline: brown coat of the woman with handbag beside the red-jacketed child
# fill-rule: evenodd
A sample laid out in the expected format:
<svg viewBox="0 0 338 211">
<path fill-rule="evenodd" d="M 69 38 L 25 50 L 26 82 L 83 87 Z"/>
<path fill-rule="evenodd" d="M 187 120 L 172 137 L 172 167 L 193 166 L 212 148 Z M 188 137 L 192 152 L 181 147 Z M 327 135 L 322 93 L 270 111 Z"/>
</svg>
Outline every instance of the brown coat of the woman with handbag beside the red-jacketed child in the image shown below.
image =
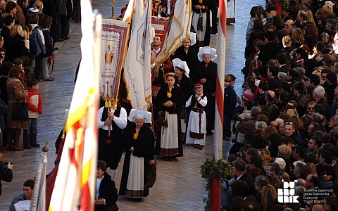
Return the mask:
<svg viewBox="0 0 338 211">
<path fill-rule="evenodd" d="M 28 129 L 28 122 L 22 120 L 12 120 L 13 105 L 17 101 L 22 103 L 27 98 L 27 91 L 20 79 L 8 77 L 6 83 L 8 92 L 8 112 L 7 112 L 7 127 L 16 129 Z"/>
</svg>

